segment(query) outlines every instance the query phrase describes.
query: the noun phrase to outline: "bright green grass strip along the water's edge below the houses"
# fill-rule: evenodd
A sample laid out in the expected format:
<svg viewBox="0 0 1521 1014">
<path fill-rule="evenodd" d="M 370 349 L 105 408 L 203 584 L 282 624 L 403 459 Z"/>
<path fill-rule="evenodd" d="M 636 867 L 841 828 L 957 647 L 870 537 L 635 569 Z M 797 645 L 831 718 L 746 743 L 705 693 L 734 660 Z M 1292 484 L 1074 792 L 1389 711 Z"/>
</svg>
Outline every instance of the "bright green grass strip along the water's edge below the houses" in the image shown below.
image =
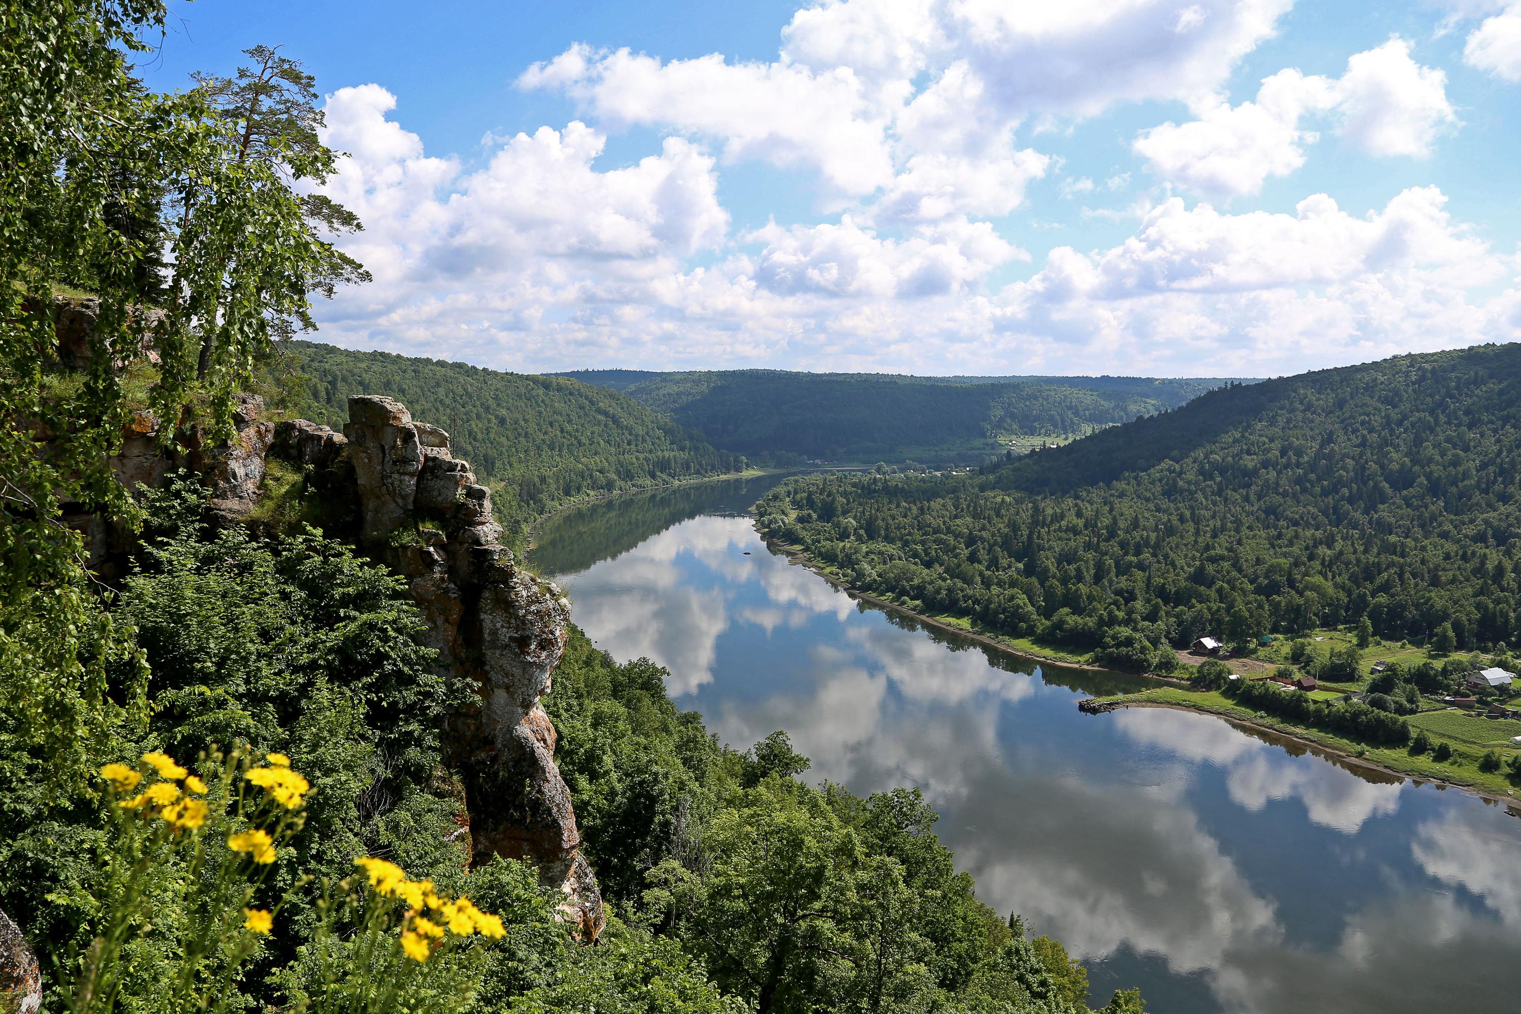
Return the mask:
<svg viewBox="0 0 1521 1014">
<path fill-rule="evenodd" d="M 1261 725 L 1287 736 L 1297 736 L 1299 739 L 1310 740 L 1316 745 L 1325 746 L 1328 749 L 1335 749 L 1338 753 L 1366 760 L 1369 763 L 1380 765 L 1381 768 L 1389 768 L 1390 771 L 1410 775 L 1413 778 L 1422 778 L 1428 781 L 1451 781 L 1453 784 L 1469 786 L 1474 789 L 1481 789 L 1484 792 L 1492 792 L 1495 795 L 1515 794 L 1516 803 L 1521 804 L 1521 780 L 1512 781 L 1504 769 L 1497 772 L 1486 772 L 1478 769 L 1480 759 L 1488 753 L 1488 746 L 1478 746 L 1460 739 L 1453 739 L 1442 736 L 1431 730 L 1427 734 L 1431 737 L 1433 749 L 1437 743 L 1445 742 L 1451 751 L 1451 760 L 1437 762 L 1431 759 L 1430 753 L 1411 754 L 1405 746 L 1372 746 L 1369 743 L 1361 743 L 1354 739 L 1345 739 L 1334 733 L 1328 733 L 1319 728 L 1308 728 L 1303 725 L 1294 725 L 1293 722 L 1285 722 L 1284 719 L 1265 715 L 1262 711 L 1252 711 L 1250 708 L 1240 707 L 1230 698 L 1215 692 L 1215 690 L 1183 690 L 1179 687 L 1153 687 L 1148 690 L 1141 690 L 1139 693 L 1121 693 L 1112 698 L 1101 698 L 1103 701 L 1121 701 L 1121 702 L 1145 702 L 1145 704 L 1168 704 L 1173 707 L 1188 708 L 1191 711 L 1205 711 L 1209 715 L 1221 715 L 1224 718 L 1240 719 L 1243 722 L 1252 722 L 1253 725 Z M 1481 721 L 1481 719 L 1472 719 Z M 1500 749 L 1501 762 L 1507 760 L 1516 751 Z"/>
</svg>

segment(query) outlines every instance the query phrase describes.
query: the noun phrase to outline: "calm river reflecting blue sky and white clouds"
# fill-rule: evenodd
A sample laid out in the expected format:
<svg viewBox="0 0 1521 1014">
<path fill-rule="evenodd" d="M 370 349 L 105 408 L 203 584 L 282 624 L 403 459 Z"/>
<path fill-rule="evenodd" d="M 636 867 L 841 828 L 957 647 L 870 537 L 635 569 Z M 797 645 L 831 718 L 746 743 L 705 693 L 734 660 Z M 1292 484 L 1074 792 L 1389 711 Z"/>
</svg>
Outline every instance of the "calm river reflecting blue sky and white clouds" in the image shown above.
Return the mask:
<svg viewBox="0 0 1521 1014">
<path fill-rule="evenodd" d="M 552 518 L 535 564 L 719 739 L 785 728 L 808 778 L 925 791 L 980 897 L 1157 1014 L 1521 1011 L 1521 819 L 1202 715 L 1078 713 L 1126 677 L 862 607 L 744 515 L 776 477 Z"/>
</svg>

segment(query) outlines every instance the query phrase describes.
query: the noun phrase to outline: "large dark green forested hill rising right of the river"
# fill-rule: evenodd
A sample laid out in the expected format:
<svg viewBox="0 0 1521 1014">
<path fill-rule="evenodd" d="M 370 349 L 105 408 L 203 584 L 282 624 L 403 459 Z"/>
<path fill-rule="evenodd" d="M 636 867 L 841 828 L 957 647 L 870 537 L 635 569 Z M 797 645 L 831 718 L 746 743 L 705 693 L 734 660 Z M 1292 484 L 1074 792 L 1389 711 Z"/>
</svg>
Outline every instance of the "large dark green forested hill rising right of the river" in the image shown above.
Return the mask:
<svg viewBox="0 0 1521 1014">
<path fill-rule="evenodd" d="M 1367 616 L 1521 640 L 1521 345 L 1252 386 L 980 476 L 809 477 L 762 523 L 884 594 L 1145 664 Z"/>
</svg>

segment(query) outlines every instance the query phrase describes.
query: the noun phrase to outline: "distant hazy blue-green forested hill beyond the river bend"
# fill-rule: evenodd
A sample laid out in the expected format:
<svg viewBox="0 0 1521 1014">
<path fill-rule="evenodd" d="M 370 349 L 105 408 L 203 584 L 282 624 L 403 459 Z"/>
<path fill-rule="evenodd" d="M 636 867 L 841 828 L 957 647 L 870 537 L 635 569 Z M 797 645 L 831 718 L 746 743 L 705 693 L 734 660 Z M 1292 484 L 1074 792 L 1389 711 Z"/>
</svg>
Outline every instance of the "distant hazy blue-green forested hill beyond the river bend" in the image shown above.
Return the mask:
<svg viewBox="0 0 1521 1014">
<path fill-rule="evenodd" d="M 981 462 L 1010 436 L 1088 433 L 1182 404 L 1212 383 L 1133 377 L 976 382 L 776 369 L 564 375 L 618 385 L 735 453 L 926 462 Z"/>
</svg>

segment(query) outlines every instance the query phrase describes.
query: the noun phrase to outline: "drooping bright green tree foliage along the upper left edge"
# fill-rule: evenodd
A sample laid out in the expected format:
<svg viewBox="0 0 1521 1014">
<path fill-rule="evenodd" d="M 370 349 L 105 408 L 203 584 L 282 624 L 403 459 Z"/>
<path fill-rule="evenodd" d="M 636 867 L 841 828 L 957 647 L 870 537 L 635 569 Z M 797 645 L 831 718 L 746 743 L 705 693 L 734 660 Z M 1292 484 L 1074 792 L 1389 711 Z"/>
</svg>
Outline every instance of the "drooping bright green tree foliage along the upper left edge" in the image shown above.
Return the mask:
<svg viewBox="0 0 1521 1014">
<path fill-rule="evenodd" d="M 70 505 L 137 517 L 106 465 L 125 379 L 152 347 L 146 404 L 228 435 L 231 394 L 271 334 L 310 325 L 335 258 L 295 193 L 332 152 L 243 160 L 205 91 L 157 94 L 131 74 L 164 17 L 158 0 L 40 0 L 9 6 L 0 33 L 0 724 L 76 784 L 134 719 L 105 699 L 129 639 L 62 523 Z M 58 385 L 53 293 L 70 283 L 99 313 L 82 372 Z"/>
</svg>

